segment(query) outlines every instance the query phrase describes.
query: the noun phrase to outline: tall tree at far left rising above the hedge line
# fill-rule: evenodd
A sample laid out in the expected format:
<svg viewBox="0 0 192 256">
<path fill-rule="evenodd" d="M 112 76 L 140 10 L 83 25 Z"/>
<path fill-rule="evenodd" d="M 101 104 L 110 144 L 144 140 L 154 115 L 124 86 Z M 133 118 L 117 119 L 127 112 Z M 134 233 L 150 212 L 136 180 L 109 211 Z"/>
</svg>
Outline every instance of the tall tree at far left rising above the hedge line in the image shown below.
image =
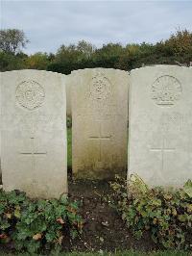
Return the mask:
<svg viewBox="0 0 192 256">
<path fill-rule="evenodd" d="M 29 40 L 18 29 L 0 30 L 0 51 L 16 54 L 26 47 Z"/>
</svg>

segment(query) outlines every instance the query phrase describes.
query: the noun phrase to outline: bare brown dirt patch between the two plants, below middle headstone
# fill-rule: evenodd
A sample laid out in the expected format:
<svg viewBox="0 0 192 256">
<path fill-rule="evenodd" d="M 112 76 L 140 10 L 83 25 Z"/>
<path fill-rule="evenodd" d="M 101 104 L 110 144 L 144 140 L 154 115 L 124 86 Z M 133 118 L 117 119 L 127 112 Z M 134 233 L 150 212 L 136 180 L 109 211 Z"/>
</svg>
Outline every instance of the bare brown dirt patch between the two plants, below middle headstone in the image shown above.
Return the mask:
<svg viewBox="0 0 192 256">
<path fill-rule="evenodd" d="M 81 200 L 84 232 L 70 244 L 70 250 L 115 251 L 136 248 L 154 250 L 158 247 L 149 234 L 141 240 L 132 237 L 125 222 L 106 200 L 110 193 L 108 182 L 78 180 L 69 182 L 69 196 Z"/>
</svg>

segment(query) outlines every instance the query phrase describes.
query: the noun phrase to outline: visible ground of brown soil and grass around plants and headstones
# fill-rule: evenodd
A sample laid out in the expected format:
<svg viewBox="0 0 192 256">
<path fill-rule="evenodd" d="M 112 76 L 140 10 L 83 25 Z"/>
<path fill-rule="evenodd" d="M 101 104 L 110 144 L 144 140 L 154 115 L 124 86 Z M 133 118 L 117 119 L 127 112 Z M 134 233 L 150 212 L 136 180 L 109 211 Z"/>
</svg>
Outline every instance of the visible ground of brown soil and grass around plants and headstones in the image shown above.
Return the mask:
<svg viewBox="0 0 192 256">
<path fill-rule="evenodd" d="M 171 247 L 171 250 L 164 250 L 159 243 L 153 242 L 149 232 L 144 232 L 141 239 L 136 239 L 131 229 L 127 227 L 126 221 L 122 220 L 116 209 L 111 207 L 112 201 L 109 198 L 112 198 L 113 192 L 107 181 L 73 180 L 71 175 L 71 128 L 67 129 L 67 135 L 69 199 L 71 202 L 80 202 L 79 214 L 83 218 L 84 227 L 82 234 L 75 239 L 64 238 L 63 252 L 59 253 L 54 250 L 53 255 L 192 255 L 189 250 L 177 250 L 174 247 Z M 9 255 L 12 252 L 12 244 L 9 246 L 2 247 L 0 244 L 0 255 Z"/>
</svg>

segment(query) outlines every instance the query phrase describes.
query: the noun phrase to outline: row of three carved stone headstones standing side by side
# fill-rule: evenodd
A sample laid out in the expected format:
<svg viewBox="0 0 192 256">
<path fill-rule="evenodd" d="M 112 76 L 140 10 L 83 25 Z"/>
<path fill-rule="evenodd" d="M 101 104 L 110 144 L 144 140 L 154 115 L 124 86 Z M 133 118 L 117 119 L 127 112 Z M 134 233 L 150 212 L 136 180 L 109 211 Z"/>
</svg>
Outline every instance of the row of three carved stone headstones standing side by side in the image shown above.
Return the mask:
<svg viewBox="0 0 192 256">
<path fill-rule="evenodd" d="M 127 172 L 165 187 L 192 179 L 191 67 L 2 72 L 0 109 L 5 191 L 67 194 L 66 115 L 75 179 Z"/>
</svg>

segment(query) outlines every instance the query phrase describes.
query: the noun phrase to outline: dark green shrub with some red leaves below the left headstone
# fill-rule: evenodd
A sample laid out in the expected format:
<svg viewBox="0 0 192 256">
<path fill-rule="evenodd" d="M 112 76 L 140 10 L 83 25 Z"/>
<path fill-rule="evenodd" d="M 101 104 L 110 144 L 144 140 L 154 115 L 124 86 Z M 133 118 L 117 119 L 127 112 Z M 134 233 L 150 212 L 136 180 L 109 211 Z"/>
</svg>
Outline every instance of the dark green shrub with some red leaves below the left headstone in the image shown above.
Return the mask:
<svg viewBox="0 0 192 256">
<path fill-rule="evenodd" d="M 0 191 L 0 243 L 13 243 L 17 251 L 30 253 L 60 246 L 82 232 L 78 202 L 30 200 L 23 192 Z"/>
</svg>

